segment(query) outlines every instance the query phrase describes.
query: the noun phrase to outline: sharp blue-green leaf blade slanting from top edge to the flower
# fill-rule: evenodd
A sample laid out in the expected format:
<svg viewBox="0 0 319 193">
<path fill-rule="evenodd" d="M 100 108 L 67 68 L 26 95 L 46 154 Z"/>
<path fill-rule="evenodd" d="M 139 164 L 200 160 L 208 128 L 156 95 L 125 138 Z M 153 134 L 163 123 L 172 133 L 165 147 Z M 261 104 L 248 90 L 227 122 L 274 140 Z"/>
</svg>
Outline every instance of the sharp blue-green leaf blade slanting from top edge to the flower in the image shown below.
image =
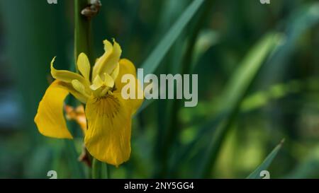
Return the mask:
<svg viewBox="0 0 319 193">
<path fill-rule="evenodd" d="M 195 15 L 198 8 L 203 4 L 204 0 L 194 0 L 181 14 L 176 23 L 169 29 L 164 38 L 159 42 L 157 47 L 152 51 L 149 57 L 142 64 L 142 68 L 144 69 L 144 74 L 151 74 L 159 66 L 162 59 L 165 57 L 169 48 L 172 47 L 174 42 L 177 40 L 177 37 L 184 30 L 186 25 L 191 21 L 191 18 Z"/>
</svg>

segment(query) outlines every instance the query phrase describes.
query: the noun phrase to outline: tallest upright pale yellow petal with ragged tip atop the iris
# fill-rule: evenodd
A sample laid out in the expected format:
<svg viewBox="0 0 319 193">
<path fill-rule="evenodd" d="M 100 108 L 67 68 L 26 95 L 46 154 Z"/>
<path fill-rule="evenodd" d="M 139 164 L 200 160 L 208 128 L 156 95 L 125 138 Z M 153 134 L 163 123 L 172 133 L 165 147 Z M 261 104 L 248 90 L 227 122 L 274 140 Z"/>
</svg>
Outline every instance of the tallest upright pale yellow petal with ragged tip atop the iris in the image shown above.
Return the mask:
<svg viewBox="0 0 319 193">
<path fill-rule="evenodd" d="M 104 40 L 104 49 L 105 53 L 102 57 L 98 59 L 94 65 L 93 77 L 99 75 L 102 76 L 104 73 L 111 74 L 112 71 L 116 68 L 118 61 L 120 60 L 122 49 L 118 43 L 113 40 L 114 44 L 111 45 L 111 42 Z"/>
</svg>

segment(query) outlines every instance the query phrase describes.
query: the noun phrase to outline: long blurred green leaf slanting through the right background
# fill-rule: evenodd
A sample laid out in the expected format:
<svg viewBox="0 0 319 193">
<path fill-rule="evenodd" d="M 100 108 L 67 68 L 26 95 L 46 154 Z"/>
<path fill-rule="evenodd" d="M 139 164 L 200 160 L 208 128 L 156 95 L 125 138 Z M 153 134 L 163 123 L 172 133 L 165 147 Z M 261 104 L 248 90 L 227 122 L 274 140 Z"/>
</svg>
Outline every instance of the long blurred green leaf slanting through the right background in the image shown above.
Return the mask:
<svg viewBox="0 0 319 193">
<path fill-rule="evenodd" d="M 220 111 L 226 110 L 225 119 L 217 126 L 216 131 L 211 137 L 211 141 L 207 146 L 204 156 L 199 165 L 197 177 L 210 177 L 213 165 L 223 144 L 228 130 L 233 124 L 233 120 L 237 115 L 242 99 L 257 76 L 259 69 L 264 64 L 265 59 L 274 51 L 279 44 L 280 35 L 277 33 L 269 33 L 260 40 L 257 45 L 252 47 L 247 57 L 239 64 L 238 69 L 228 82 L 225 92 L 223 93 L 223 103 Z"/>
</svg>

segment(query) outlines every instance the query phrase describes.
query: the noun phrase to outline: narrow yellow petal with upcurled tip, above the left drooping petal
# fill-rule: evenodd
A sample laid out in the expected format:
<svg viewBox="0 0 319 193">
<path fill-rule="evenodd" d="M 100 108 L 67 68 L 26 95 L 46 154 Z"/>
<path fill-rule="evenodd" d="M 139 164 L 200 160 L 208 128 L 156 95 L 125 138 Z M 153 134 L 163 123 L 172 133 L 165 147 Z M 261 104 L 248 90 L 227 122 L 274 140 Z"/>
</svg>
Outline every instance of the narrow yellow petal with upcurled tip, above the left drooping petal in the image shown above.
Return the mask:
<svg viewBox="0 0 319 193">
<path fill-rule="evenodd" d="M 52 59 L 52 62 L 51 62 L 51 75 L 53 78 L 65 83 L 72 83 L 72 81 L 76 79 L 80 81 L 84 86 L 89 87 L 89 81 L 86 80 L 83 76 L 77 73 L 74 73 L 72 71 L 57 70 L 53 66 L 54 62 L 55 62 L 55 57 Z"/>
</svg>

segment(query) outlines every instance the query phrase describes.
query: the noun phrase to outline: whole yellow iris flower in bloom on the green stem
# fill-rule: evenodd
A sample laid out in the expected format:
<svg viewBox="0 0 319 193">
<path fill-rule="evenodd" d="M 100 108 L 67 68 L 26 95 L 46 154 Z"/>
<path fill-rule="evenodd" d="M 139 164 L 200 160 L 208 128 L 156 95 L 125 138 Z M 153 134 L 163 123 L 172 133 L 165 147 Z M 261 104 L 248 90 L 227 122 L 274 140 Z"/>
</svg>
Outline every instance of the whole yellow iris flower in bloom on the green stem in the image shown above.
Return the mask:
<svg viewBox="0 0 319 193">
<path fill-rule="evenodd" d="M 77 59 L 79 74 L 57 70 L 51 62 L 51 74 L 55 81 L 47 88 L 40 101 L 35 124 L 45 136 L 72 139 L 63 113 L 64 100 L 71 93 L 85 105 L 87 129 L 84 144 L 91 156 L 120 165 L 130 157 L 131 117 L 142 104 L 142 99 L 125 100 L 121 89 L 124 74 L 133 74 L 135 88 L 140 89 L 135 66 L 128 59 L 120 59 L 121 47 L 113 40 L 103 41 L 105 53 L 91 69 L 86 54 Z M 135 93 L 140 92 L 138 90 Z"/>
</svg>

